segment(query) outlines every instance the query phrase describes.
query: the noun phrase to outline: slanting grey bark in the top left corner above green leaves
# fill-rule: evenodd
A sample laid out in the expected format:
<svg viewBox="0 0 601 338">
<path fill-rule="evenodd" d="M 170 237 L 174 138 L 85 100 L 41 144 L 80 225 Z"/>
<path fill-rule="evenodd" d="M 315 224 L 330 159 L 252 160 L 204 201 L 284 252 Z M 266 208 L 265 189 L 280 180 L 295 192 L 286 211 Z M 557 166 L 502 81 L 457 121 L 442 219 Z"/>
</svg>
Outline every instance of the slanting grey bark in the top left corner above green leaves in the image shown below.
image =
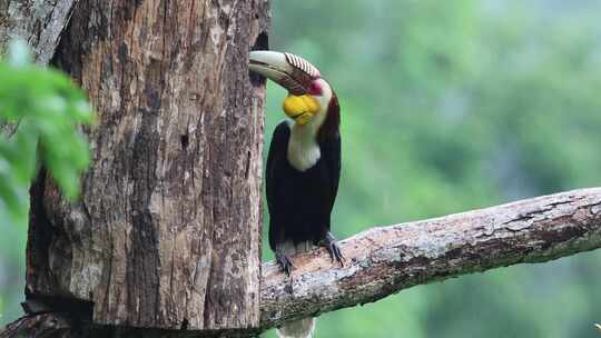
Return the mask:
<svg viewBox="0 0 601 338">
<path fill-rule="evenodd" d="M 36 61 L 47 64 L 78 0 L 0 0 L 0 53 L 11 38 L 33 49 Z"/>
</svg>

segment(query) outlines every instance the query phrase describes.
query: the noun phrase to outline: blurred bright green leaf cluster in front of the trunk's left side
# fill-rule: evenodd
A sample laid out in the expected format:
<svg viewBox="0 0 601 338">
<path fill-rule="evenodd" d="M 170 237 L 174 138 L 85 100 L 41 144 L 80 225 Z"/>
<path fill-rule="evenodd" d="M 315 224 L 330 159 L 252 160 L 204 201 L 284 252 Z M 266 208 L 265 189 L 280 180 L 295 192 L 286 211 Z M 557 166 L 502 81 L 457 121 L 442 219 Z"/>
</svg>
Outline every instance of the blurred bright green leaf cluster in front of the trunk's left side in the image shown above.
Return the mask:
<svg viewBox="0 0 601 338">
<path fill-rule="evenodd" d="M 80 125 L 93 122 L 85 93 L 63 73 L 31 63 L 23 41 L 0 61 L 0 209 L 22 221 L 28 187 L 43 165 L 69 198 L 88 167 Z"/>
</svg>

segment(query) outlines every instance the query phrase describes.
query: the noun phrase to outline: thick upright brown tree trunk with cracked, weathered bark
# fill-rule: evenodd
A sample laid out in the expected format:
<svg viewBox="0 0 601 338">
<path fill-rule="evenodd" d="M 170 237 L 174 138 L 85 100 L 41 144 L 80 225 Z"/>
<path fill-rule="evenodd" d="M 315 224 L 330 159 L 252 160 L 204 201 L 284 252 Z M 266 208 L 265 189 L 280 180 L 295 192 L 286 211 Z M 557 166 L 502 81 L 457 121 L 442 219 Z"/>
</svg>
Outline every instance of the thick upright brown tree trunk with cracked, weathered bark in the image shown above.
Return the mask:
<svg viewBox="0 0 601 338">
<path fill-rule="evenodd" d="M 80 0 L 53 63 L 89 93 L 77 203 L 31 189 L 26 294 L 95 325 L 259 324 L 266 0 Z M 75 310 L 78 309 L 78 310 Z"/>
</svg>

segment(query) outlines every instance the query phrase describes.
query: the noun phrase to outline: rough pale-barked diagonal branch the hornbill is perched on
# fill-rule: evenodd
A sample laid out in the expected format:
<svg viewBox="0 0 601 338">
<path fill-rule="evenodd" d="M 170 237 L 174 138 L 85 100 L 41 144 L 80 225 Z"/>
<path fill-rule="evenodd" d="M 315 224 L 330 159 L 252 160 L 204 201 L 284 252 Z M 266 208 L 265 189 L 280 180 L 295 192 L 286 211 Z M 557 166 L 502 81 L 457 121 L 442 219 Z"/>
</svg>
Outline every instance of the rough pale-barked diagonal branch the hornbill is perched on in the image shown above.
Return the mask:
<svg viewBox="0 0 601 338">
<path fill-rule="evenodd" d="M 341 245 L 345 267 L 325 249 L 297 255 L 292 281 L 274 262 L 263 265 L 263 330 L 416 285 L 599 248 L 601 188 L 373 228 Z"/>
</svg>

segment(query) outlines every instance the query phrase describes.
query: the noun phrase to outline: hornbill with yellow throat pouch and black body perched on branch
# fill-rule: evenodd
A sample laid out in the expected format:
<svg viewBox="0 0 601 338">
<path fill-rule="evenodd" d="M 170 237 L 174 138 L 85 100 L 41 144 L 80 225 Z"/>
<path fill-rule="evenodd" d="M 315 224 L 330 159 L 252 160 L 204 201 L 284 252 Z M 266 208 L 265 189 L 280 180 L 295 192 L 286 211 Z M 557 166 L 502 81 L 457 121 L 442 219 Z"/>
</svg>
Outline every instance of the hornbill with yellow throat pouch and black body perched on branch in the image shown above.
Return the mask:
<svg viewBox="0 0 601 338">
<path fill-rule="evenodd" d="M 329 231 L 341 177 L 338 99 L 317 68 L 295 54 L 252 51 L 249 69 L 288 90 L 283 105 L 288 119 L 276 127 L 267 156 L 269 246 L 276 260 L 289 276 L 289 256 L 315 245 L 343 265 Z M 314 325 L 313 319 L 287 324 L 279 335 L 309 337 Z"/>
</svg>

